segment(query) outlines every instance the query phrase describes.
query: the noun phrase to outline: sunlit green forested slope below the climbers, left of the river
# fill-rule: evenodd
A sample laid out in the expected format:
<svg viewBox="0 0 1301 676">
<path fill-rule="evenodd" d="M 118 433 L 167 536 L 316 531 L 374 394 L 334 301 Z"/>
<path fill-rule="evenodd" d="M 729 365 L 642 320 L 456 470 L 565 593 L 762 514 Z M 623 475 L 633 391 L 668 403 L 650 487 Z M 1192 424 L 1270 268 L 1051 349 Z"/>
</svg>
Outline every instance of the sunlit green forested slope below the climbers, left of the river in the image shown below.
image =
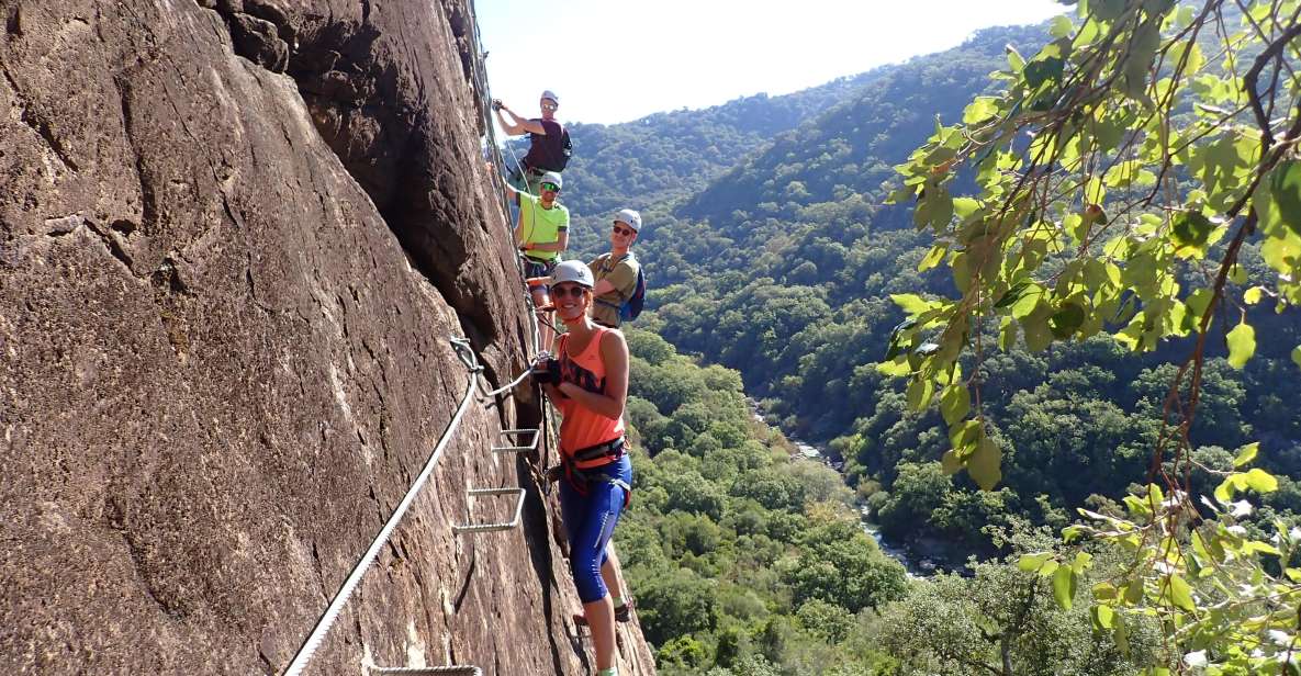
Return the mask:
<svg viewBox="0 0 1301 676">
<path fill-rule="evenodd" d="M 637 488 L 618 549 L 667 676 L 1013 673 L 1121 676 L 1151 660 L 1154 625 L 1128 655 L 1054 606 L 1046 578 L 1000 562 L 908 580 L 864 534 L 852 493 L 792 456 L 751 416 L 740 376 L 704 368 L 632 329 L 628 421 Z M 999 529 L 1011 551 L 1045 533 Z M 1093 575 L 1118 559 L 1099 556 Z M 1003 673 L 995 671 L 995 673 Z"/>
</svg>

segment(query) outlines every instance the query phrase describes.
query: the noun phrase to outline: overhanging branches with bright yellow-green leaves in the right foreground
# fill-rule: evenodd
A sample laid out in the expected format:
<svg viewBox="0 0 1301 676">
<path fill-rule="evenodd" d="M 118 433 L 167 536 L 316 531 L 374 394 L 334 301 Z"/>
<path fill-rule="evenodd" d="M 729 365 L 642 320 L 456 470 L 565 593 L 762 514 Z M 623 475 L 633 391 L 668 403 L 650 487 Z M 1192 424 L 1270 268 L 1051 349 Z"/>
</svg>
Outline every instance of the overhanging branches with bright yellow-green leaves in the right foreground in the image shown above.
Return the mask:
<svg viewBox="0 0 1301 676">
<path fill-rule="evenodd" d="M 991 489 L 1008 448 L 981 406 L 982 378 L 964 374 L 982 373 L 986 334 L 1032 352 L 1103 332 L 1136 352 L 1181 341 L 1187 356 L 1151 407 L 1153 467 L 1172 468 L 1155 477 L 1164 490 L 1149 485 L 1125 498 L 1123 517 L 1085 512 L 1093 523 L 1069 529 L 1132 556 L 1124 576 L 1094 588 L 1097 620 L 1124 642 L 1134 623 L 1160 618 L 1172 638 L 1164 666 L 1291 672 L 1301 572 L 1271 575 L 1258 556 L 1289 560 L 1293 538 L 1280 526 L 1278 545 L 1253 540 L 1239 523 L 1250 504 L 1233 502 L 1278 480 L 1246 469 L 1253 443 L 1206 503 L 1213 519 L 1187 486 L 1202 396 L 1215 400 L 1207 352 L 1248 367 L 1262 321 L 1253 306 L 1301 304 L 1301 3 L 1098 0 L 1079 14 L 1055 21 L 1037 53 L 1010 49 L 1000 91 L 977 96 L 958 125 L 937 122 L 898 168 L 894 199 L 916 200 L 913 222 L 935 235 L 920 268 L 947 268 L 956 294 L 896 294 L 908 318 L 881 368 L 908 377 L 915 410 L 939 402 L 945 468 Z M 971 174 L 973 191 L 956 178 Z M 1301 367 L 1301 346 L 1274 350 Z M 974 369 L 961 368 L 964 354 Z M 1233 411 L 1206 411 L 1229 429 L 1201 432 L 1236 432 Z M 1081 573 L 1067 563 L 1023 559 L 1051 572 L 1055 592 Z M 1071 594 L 1056 597 L 1071 606 Z M 1281 606 L 1261 616 L 1261 603 Z"/>
</svg>

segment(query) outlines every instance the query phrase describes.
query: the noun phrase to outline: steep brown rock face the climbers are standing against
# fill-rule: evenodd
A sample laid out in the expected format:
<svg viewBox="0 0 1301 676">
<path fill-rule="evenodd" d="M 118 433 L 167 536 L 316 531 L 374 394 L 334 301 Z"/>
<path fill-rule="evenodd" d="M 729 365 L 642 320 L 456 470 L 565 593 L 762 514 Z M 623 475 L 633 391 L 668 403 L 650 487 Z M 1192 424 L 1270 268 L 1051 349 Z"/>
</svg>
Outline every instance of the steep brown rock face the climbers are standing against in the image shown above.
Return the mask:
<svg viewBox="0 0 1301 676">
<path fill-rule="evenodd" d="M 530 332 L 467 0 L 0 0 L 0 672 L 278 673 Z M 307 673 L 585 673 L 475 403 Z M 523 528 L 505 521 L 524 486 Z M 636 627 L 621 673 L 653 673 Z"/>
</svg>

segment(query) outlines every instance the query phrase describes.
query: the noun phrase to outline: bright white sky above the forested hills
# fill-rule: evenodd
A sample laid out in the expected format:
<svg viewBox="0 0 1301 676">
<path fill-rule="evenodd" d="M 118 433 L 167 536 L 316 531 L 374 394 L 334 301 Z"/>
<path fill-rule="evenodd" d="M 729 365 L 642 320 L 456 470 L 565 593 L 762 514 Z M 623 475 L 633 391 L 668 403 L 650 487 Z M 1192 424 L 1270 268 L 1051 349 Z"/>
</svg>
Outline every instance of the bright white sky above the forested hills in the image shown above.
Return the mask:
<svg viewBox="0 0 1301 676">
<path fill-rule="evenodd" d="M 738 96 L 790 94 L 1037 23 L 1055 0 L 476 0 L 493 95 L 536 117 L 627 122 Z"/>
</svg>

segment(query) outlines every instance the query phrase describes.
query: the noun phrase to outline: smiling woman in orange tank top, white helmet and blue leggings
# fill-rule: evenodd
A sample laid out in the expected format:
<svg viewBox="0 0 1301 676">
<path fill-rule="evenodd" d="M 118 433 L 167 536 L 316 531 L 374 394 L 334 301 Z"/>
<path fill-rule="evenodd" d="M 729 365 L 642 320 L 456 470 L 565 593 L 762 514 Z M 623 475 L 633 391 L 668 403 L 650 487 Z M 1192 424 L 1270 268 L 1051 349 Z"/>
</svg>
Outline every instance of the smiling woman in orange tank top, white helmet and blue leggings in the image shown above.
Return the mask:
<svg viewBox="0 0 1301 676">
<path fill-rule="evenodd" d="M 606 551 L 632 490 L 632 464 L 623 451 L 628 344 L 619 330 L 598 326 L 588 316 L 593 286 L 587 265 L 556 266 L 552 300 L 569 332 L 557 343 L 557 359 L 539 361 L 533 376 L 563 416 L 561 515 L 582 619 L 592 628 L 596 667 L 604 676 L 615 673 L 615 603 L 605 580 L 613 585 L 617 576 Z M 627 616 L 626 606 L 622 612 L 619 619 Z"/>
</svg>

